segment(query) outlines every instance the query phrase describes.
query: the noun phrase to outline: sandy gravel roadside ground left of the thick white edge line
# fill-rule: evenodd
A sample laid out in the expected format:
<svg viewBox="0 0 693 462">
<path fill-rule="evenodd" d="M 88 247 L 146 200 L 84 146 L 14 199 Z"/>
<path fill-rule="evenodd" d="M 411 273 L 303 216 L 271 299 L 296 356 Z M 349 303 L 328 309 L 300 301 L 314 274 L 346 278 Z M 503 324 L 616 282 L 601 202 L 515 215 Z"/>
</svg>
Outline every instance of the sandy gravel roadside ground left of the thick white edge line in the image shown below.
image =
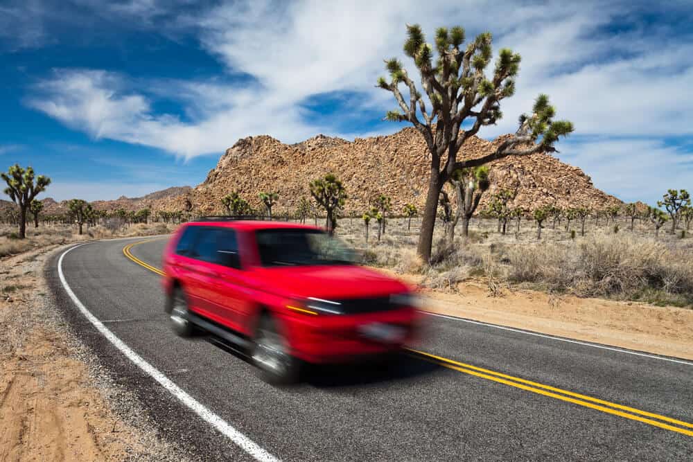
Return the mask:
<svg viewBox="0 0 693 462">
<path fill-rule="evenodd" d="M 114 414 L 51 308 L 48 251 L 0 262 L 0 461 L 161 459 L 152 436 Z"/>
</svg>

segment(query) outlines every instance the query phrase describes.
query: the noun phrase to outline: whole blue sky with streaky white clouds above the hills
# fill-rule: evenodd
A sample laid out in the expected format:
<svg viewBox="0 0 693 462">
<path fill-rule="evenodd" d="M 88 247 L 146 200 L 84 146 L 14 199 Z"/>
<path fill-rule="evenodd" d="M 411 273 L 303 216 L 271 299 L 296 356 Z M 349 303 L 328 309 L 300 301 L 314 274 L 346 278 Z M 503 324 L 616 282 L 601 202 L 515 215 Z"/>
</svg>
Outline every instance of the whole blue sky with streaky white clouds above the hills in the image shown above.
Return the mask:
<svg viewBox="0 0 693 462">
<path fill-rule="evenodd" d="M 374 87 L 405 24 L 490 30 L 523 56 L 505 118 L 539 92 L 595 186 L 656 202 L 693 189 L 693 4 L 506 1 L 0 1 L 0 167 L 89 200 L 194 186 L 237 139 L 388 134 Z M 410 73 L 413 72 L 410 71 Z"/>
</svg>

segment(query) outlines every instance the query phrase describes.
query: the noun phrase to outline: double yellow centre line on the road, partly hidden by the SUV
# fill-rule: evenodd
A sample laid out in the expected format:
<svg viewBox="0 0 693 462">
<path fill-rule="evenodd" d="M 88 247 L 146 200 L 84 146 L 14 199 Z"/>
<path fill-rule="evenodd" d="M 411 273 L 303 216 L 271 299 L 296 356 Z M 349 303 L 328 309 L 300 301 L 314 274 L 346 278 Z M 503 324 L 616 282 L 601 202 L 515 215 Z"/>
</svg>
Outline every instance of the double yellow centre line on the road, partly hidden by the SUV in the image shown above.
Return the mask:
<svg viewBox="0 0 693 462">
<path fill-rule="evenodd" d="M 132 255 L 132 252 L 130 252 L 132 247 L 140 245 L 143 242 L 150 241 L 151 239 L 128 244 L 123 247 L 123 254 L 130 258 L 130 260 L 134 261 L 134 263 L 137 263 L 138 265 L 141 265 L 146 269 L 149 269 L 151 272 L 159 274 L 160 276 L 164 276 L 164 272 L 162 272 L 161 269 L 148 265 L 148 263 L 144 263 L 142 260 Z M 466 364 L 464 362 L 457 362 L 453 359 L 432 355 L 424 351 L 414 350 L 411 348 L 409 351 L 412 353 L 412 355 L 414 355 L 414 357 L 419 357 L 420 359 L 424 359 L 428 362 L 432 362 L 433 364 L 452 369 L 453 371 L 473 375 L 485 380 L 491 380 L 492 382 L 504 384 L 508 387 L 515 387 L 532 393 L 537 393 L 539 395 L 548 396 L 549 398 L 554 398 L 556 400 L 570 402 L 574 405 L 588 407 L 590 409 L 602 411 L 613 416 L 637 420 L 638 422 L 653 425 L 654 427 L 666 429 L 671 432 L 684 434 L 686 436 L 693 436 L 693 424 L 684 422 L 683 420 L 661 416 L 660 414 L 654 414 L 653 412 L 642 411 L 640 409 L 635 409 L 634 407 L 620 405 L 611 401 L 600 400 L 599 398 L 582 395 L 580 393 L 575 393 L 574 391 L 563 390 L 556 387 L 551 387 L 550 385 L 532 382 L 531 380 L 525 380 L 520 377 L 514 377 L 513 375 L 491 371 L 490 369 L 473 366 L 472 364 Z"/>
</svg>

